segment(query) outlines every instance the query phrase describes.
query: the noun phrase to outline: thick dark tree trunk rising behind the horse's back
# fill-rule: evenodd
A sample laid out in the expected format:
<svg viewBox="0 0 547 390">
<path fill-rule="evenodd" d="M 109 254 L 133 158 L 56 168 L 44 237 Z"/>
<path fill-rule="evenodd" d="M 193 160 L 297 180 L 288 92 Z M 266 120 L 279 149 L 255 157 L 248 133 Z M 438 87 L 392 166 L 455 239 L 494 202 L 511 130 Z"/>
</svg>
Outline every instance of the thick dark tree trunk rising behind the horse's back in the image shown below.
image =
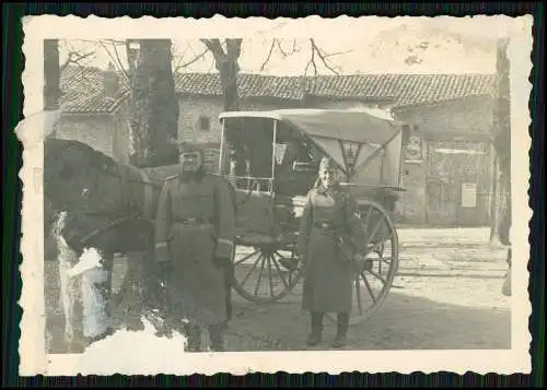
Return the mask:
<svg viewBox="0 0 547 390">
<path fill-rule="evenodd" d="M 178 101 L 172 69 L 170 39 L 140 39 L 139 48 L 128 48 L 131 76 L 130 127 L 135 166 L 176 164 L 172 143 L 178 138 Z M 129 46 L 131 43 L 129 43 Z"/>
</svg>

